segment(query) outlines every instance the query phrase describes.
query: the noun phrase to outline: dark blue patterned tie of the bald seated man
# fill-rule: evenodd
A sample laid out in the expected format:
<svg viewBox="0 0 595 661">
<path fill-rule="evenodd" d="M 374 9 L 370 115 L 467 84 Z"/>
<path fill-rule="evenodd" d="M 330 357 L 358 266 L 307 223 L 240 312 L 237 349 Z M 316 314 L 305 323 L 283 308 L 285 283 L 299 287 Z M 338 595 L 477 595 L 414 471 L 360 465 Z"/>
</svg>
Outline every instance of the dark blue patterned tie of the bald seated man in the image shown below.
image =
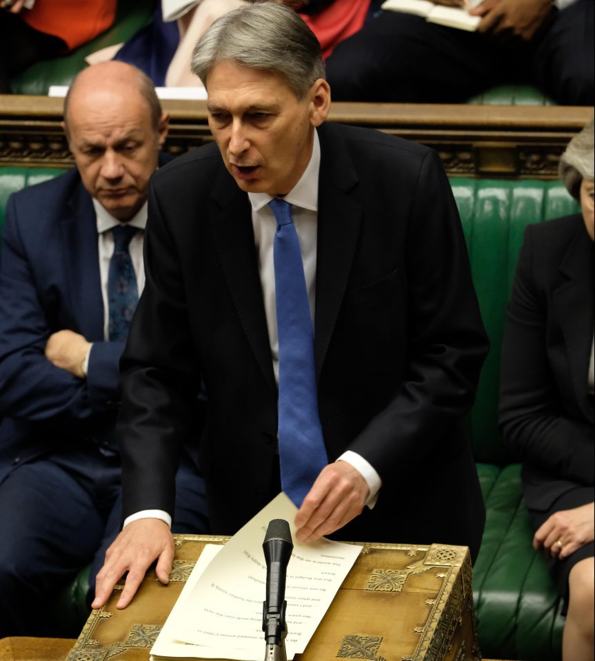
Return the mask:
<svg viewBox="0 0 595 661">
<path fill-rule="evenodd" d="M 123 342 L 127 338 L 132 314 L 139 301 L 137 276 L 134 275 L 134 267 L 128 251 L 128 245 L 137 232 L 136 227 L 128 227 L 128 225 L 119 225 L 112 230 L 114 254 L 110 260 L 108 275 L 111 342 Z"/>
</svg>

